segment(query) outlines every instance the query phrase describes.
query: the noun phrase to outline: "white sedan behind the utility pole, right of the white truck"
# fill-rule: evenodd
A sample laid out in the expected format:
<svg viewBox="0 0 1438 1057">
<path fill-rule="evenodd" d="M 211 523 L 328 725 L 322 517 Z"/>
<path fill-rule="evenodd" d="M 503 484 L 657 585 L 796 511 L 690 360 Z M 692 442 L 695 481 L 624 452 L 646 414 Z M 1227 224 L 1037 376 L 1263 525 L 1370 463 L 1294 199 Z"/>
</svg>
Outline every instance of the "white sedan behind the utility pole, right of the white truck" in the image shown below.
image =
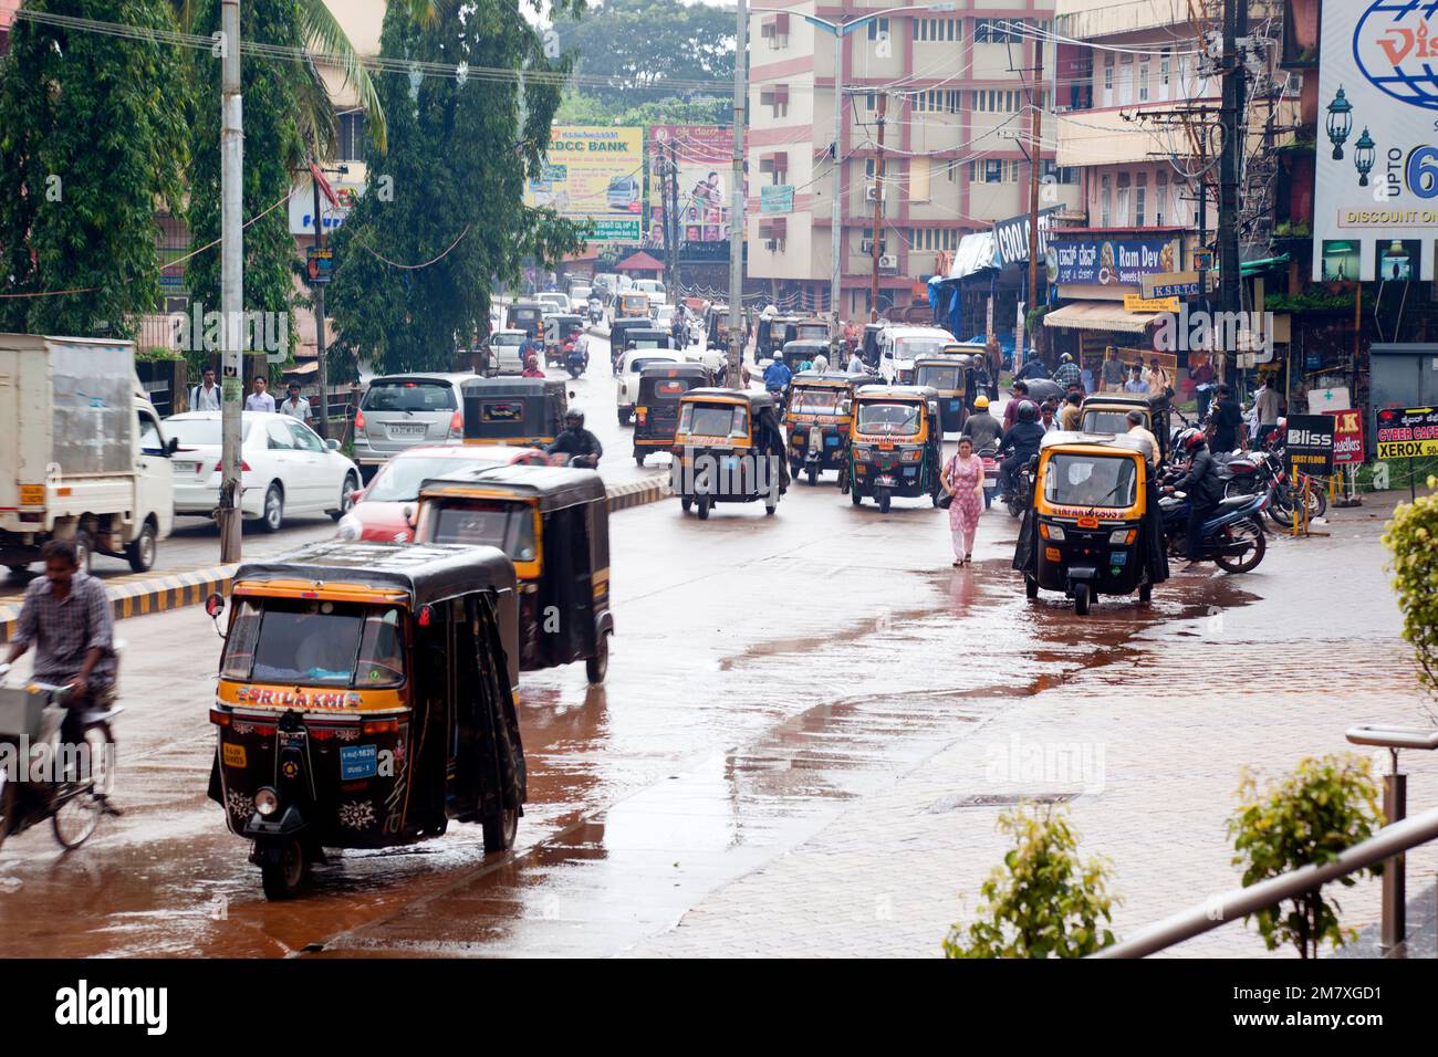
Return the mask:
<svg viewBox="0 0 1438 1057">
<path fill-rule="evenodd" d="M 244 411 L 240 434 L 244 518 L 278 532 L 286 515 L 328 513 L 338 521 L 348 513 L 360 467 L 339 453 L 338 440 L 321 440 L 302 421 L 270 411 Z M 175 515 L 211 516 L 220 503 L 220 413 L 170 416 L 165 436 L 180 444 L 170 460 Z"/>
</svg>

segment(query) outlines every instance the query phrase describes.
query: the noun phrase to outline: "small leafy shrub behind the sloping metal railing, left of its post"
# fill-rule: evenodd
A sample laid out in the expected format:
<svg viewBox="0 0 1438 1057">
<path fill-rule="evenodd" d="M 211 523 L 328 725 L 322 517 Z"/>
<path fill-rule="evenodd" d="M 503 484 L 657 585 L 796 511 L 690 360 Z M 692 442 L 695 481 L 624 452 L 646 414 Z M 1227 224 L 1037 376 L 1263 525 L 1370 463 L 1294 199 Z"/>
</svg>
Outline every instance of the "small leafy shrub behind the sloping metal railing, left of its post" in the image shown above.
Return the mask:
<svg viewBox="0 0 1438 1057">
<path fill-rule="evenodd" d="M 1264 788 L 1245 774 L 1238 795 L 1244 802 L 1229 818 L 1228 833 L 1245 886 L 1333 861 L 1382 825 L 1372 762 L 1353 754 L 1306 758 L 1291 775 Z M 1356 883 L 1352 874 L 1337 880 L 1343 886 Z M 1270 951 L 1293 943 L 1300 958 L 1317 958 L 1324 942 L 1342 946 L 1352 936 L 1339 926 L 1340 909 L 1336 899 L 1314 889 L 1250 916 L 1258 919 Z"/>
</svg>

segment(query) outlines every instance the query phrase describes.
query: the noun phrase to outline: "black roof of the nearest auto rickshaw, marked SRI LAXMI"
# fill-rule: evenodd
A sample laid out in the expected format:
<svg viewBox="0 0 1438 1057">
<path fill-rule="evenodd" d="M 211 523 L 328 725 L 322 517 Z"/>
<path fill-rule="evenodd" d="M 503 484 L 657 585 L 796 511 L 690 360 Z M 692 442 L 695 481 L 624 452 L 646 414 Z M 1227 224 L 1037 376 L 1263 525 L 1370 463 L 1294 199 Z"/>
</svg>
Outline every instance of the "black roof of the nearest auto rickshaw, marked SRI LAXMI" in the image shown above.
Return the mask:
<svg viewBox="0 0 1438 1057">
<path fill-rule="evenodd" d="M 236 584 L 278 580 L 398 588 L 426 605 L 473 591 L 512 591 L 515 565 L 495 546 L 326 539 L 246 562 L 234 574 Z"/>
</svg>

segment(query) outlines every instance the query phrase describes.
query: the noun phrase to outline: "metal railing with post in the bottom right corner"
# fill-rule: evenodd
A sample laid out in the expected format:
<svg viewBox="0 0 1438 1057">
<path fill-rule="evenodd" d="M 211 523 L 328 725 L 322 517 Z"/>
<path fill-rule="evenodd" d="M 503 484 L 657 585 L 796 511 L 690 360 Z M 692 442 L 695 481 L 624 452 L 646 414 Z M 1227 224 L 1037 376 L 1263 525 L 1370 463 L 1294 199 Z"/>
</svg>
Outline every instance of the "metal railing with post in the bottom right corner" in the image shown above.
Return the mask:
<svg viewBox="0 0 1438 1057">
<path fill-rule="evenodd" d="M 1146 958 L 1185 939 L 1241 920 L 1251 913 L 1276 906 L 1286 899 L 1320 889 L 1357 870 L 1383 863 L 1383 909 L 1379 946 L 1391 951 L 1406 936 L 1403 853 L 1438 838 L 1438 808 L 1405 818 L 1408 775 L 1398 769 L 1399 749 L 1438 749 L 1438 731 L 1401 726 L 1355 726 L 1347 732 L 1355 745 L 1373 745 L 1389 751 L 1392 771 L 1383 775 L 1383 815 L 1388 824 L 1378 834 L 1339 853 L 1329 863 L 1310 864 L 1270 877 L 1248 887 L 1209 896 L 1202 903 L 1165 918 L 1133 939 L 1104 948 L 1094 958 Z"/>
</svg>

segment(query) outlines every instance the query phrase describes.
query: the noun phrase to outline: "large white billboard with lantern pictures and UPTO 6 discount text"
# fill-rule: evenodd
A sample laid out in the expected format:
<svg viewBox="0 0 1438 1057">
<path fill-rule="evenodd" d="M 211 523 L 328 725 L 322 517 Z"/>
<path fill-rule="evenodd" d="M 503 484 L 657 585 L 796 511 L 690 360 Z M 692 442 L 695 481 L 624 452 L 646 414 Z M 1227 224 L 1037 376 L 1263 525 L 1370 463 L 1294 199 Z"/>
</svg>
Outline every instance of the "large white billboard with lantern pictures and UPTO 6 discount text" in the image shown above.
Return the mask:
<svg viewBox="0 0 1438 1057">
<path fill-rule="evenodd" d="M 1438 240 L 1438 6 L 1324 0 L 1319 52 L 1317 194 L 1313 278 L 1375 273 L 1379 244 L 1418 240 L 1434 278 Z M 1353 243 L 1336 267 L 1330 244 Z"/>
</svg>

